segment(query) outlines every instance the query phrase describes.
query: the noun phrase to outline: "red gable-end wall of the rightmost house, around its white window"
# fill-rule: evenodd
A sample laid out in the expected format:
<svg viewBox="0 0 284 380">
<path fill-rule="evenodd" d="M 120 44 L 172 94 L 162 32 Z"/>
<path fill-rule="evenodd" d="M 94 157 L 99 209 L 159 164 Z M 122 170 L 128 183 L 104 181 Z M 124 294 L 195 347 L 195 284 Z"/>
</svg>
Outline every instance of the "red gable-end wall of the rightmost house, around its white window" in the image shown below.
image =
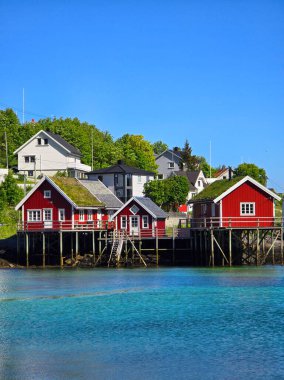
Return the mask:
<svg viewBox="0 0 284 380">
<path fill-rule="evenodd" d="M 240 203 L 241 202 L 255 202 L 255 215 L 254 216 L 241 216 Z M 238 222 L 238 226 L 256 227 L 258 218 L 266 218 L 266 220 L 259 219 L 260 226 L 272 226 L 273 218 L 273 199 L 262 190 L 250 182 L 245 182 L 239 186 L 232 193 L 228 194 L 222 200 L 222 214 L 223 218 L 239 217 L 242 222 Z M 269 218 L 271 218 L 269 220 Z M 236 222 L 237 223 L 237 222 Z M 223 223 L 223 226 L 228 226 L 229 223 Z M 233 225 L 233 224 L 232 224 Z"/>
</svg>

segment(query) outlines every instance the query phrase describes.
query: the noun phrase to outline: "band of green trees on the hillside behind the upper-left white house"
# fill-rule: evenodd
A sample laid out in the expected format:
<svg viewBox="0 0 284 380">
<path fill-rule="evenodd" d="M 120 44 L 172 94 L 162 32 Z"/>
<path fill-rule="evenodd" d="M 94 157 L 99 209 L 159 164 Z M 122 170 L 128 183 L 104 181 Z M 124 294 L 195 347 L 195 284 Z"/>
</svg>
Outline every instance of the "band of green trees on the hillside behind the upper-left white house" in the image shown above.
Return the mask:
<svg viewBox="0 0 284 380">
<path fill-rule="evenodd" d="M 37 122 L 20 124 L 12 109 L 0 110 L 0 167 L 17 165 L 13 152 L 40 130 L 59 134 L 82 153 L 82 162 L 94 169 L 113 165 L 122 159 L 128 165 L 156 171 L 152 144 L 141 135 L 126 134 L 114 140 L 109 132 L 101 131 L 95 125 L 80 122 L 74 118 L 40 119 Z M 93 157 L 92 157 L 93 154 Z"/>
</svg>

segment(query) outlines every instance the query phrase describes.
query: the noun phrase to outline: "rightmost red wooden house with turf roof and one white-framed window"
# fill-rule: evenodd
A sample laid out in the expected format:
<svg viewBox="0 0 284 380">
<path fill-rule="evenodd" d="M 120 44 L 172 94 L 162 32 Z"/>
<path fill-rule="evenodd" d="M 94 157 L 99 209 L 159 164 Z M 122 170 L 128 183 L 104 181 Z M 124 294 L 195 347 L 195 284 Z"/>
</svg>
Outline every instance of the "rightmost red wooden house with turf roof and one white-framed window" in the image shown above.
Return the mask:
<svg viewBox="0 0 284 380">
<path fill-rule="evenodd" d="M 233 178 L 212 183 L 197 194 L 192 227 L 272 227 L 274 201 L 281 198 L 253 178 Z"/>
</svg>

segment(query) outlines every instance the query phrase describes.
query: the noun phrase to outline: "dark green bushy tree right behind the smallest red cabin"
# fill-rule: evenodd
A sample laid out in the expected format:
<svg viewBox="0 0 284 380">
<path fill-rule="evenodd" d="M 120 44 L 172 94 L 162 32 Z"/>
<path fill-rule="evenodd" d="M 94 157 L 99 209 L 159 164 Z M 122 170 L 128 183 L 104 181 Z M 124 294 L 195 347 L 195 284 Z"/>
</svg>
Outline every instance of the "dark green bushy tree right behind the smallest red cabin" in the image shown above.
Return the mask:
<svg viewBox="0 0 284 380">
<path fill-rule="evenodd" d="M 144 185 L 145 196 L 152 199 L 166 211 L 177 211 L 186 202 L 189 185 L 185 177 L 172 176 L 164 180 L 154 180 Z"/>
</svg>

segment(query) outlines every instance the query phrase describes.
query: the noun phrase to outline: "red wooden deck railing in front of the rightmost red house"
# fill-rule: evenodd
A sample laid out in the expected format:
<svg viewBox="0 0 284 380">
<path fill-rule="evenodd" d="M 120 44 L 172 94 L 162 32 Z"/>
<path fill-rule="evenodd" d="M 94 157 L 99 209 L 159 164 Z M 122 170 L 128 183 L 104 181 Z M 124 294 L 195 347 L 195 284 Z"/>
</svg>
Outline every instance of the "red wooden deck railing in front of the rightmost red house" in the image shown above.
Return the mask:
<svg viewBox="0 0 284 380">
<path fill-rule="evenodd" d="M 210 218 L 190 218 L 187 220 L 189 228 L 258 228 L 258 227 L 283 227 L 283 218 L 280 217 L 210 217 Z M 185 222 L 181 221 L 181 225 Z"/>
</svg>

